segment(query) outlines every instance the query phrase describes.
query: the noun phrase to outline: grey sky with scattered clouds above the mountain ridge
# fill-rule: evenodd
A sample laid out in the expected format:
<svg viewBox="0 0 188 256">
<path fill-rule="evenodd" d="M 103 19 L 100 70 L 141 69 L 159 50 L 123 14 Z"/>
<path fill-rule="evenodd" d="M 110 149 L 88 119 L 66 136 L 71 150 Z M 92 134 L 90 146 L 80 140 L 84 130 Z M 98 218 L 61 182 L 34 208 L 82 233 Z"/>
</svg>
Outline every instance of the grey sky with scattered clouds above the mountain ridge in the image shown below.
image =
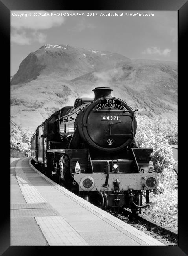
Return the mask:
<svg viewBox="0 0 188 256">
<path fill-rule="evenodd" d="M 11 11 L 10 75 L 45 44 L 116 52 L 130 59 L 177 61 L 177 15 L 148 10 Z"/>
</svg>

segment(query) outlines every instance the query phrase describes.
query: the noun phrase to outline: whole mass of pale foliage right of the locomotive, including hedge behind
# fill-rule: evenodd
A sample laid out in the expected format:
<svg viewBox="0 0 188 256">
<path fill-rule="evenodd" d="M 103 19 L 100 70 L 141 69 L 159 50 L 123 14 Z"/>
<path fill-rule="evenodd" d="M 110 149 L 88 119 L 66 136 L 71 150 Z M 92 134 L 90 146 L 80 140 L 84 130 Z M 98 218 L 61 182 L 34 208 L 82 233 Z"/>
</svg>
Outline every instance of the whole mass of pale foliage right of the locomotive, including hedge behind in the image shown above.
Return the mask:
<svg viewBox="0 0 188 256">
<path fill-rule="evenodd" d="M 156 203 L 153 211 L 177 216 L 178 191 L 175 186 L 178 177 L 173 169 L 176 161 L 169 146 L 169 143 L 178 142 L 177 125 L 139 116 L 136 140 L 140 148 L 153 148 L 151 161 L 159 179 L 159 185 L 150 193 L 150 201 Z"/>
</svg>

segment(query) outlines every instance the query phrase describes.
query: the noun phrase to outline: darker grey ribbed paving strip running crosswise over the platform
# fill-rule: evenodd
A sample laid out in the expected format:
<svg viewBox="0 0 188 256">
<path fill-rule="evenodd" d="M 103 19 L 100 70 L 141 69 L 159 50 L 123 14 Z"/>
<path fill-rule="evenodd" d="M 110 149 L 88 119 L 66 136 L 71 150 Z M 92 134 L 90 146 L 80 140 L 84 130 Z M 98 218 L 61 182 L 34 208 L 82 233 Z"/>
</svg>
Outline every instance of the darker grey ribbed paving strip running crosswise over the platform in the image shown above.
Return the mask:
<svg viewBox="0 0 188 256">
<path fill-rule="evenodd" d="M 11 217 L 57 216 L 52 209 L 13 209 Z"/>
</svg>

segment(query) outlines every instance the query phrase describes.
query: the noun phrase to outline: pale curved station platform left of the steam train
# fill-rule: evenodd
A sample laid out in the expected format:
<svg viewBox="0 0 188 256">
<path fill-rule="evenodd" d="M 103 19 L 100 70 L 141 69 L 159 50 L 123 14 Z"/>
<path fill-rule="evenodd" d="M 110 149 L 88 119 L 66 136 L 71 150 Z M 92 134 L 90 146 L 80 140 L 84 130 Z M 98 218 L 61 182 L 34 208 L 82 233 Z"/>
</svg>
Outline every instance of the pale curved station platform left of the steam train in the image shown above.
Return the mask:
<svg viewBox="0 0 188 256">
<path fill-rule="evenodd" d="M 11 159 L 10 170 L 11 246 L 164 246 L 53 182 L 31 158 Z"/>
</svg>

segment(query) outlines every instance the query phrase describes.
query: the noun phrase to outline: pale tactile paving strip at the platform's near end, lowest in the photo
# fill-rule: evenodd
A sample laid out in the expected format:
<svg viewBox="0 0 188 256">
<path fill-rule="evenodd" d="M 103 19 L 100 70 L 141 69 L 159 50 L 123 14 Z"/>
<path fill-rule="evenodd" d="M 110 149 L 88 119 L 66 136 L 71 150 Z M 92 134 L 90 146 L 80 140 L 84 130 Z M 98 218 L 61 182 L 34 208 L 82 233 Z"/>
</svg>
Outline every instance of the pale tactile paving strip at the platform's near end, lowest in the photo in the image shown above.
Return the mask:
<svg viewBox="0 0 188 256">
<path fill-rule="evenodd" d="M 62 216 L 35 217 L 50 246 L 88 245 Z"/>
</svg>

